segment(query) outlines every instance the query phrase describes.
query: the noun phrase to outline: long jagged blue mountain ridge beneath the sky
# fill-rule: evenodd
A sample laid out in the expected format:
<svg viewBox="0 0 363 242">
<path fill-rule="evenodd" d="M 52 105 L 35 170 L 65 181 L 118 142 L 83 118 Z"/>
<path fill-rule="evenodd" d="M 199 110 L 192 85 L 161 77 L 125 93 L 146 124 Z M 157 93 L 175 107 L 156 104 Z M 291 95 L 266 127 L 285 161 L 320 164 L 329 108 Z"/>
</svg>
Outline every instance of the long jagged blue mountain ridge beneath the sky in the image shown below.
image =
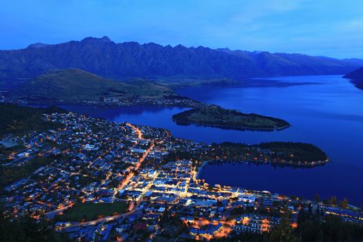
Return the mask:
<svg viewBox="0 0 363 242">
<path fill-rule="evenodd" d="M 33 78 L 50 69 L 79 68 L 102 77 L 263 77 L 348 73 L 362 59 L 333 59 L 301 54 L 187 48 L 86 37 L 62 44 L 30 44 L 0 50 L 0 80 Z"/>
</svg>

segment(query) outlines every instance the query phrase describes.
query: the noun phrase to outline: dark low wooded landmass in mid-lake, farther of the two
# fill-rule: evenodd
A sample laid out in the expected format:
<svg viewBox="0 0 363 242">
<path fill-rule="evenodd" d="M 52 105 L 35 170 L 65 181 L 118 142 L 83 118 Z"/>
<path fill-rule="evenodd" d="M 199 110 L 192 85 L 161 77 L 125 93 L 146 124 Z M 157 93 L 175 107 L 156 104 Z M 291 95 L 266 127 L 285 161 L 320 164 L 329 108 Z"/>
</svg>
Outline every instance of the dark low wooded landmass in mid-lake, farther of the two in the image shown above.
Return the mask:
<svg viewBox="0 0 363 242">
<path fill-rule="evenodd" d="M 279 118 L 258 115 L 255 113 L 241 113 L 240 111 L 223 109 L 216 105 L 203 105 L 173 115 L 177 124 L 196 124 L 222 129 L 256 129 L 279 130 L 290 127 L 290 124 Z"/>
</svg>

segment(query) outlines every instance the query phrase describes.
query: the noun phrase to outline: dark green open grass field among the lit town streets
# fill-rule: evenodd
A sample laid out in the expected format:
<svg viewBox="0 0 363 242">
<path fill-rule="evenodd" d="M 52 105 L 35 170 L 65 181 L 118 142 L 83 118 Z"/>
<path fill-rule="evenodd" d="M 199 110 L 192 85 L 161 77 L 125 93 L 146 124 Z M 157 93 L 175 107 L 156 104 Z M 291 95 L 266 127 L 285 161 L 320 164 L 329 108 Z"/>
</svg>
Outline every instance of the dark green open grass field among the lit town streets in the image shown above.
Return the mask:
<svg viewBox="0 0 363 242">
<path fill-rule="evenodd" d="M 58 221 L 91 221 L 100 216 L 122 214 L 126 212 L 127 203 L 77 203 L 64 214 L 57 216 Z"/>
</svg>

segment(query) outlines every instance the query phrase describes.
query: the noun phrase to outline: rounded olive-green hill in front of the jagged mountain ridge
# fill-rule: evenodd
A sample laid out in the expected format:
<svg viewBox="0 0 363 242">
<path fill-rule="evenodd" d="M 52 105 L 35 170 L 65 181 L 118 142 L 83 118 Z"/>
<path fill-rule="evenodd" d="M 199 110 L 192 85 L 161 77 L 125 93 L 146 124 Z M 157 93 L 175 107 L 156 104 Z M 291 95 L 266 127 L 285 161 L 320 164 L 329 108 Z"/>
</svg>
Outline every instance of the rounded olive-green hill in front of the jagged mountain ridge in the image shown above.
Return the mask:
<svg viewBox="0 0 363 242">
<path fill-rule="evenodd" d="M 161 98 L 174 95 L 165 86 L 134 78 L 126 82 L 107 80 L 75 68 L 39 75 L 13 91 L 13 97 L 27 100 L 100 100 L 102 97 Z"/>
</svg>

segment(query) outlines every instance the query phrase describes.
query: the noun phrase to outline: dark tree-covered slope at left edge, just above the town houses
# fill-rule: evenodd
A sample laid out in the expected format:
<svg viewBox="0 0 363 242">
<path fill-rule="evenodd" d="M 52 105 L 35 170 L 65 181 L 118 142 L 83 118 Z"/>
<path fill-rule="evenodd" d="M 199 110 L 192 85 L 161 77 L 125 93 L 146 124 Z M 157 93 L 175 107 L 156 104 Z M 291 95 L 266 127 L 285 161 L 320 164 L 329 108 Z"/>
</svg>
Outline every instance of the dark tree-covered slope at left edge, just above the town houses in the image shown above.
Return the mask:
<svg viewBox="0 0 363 242">
<path fill-rule="evenodd" d="M 46 109 L 18 106 L 15 104 L 0 104 L 0 136 L 6 133 L 14 135 L 31 131 L 55 129 L 61 124 L 44 120 L 44 113 L 62 112 L 51 106 Z"/>
</svg>

